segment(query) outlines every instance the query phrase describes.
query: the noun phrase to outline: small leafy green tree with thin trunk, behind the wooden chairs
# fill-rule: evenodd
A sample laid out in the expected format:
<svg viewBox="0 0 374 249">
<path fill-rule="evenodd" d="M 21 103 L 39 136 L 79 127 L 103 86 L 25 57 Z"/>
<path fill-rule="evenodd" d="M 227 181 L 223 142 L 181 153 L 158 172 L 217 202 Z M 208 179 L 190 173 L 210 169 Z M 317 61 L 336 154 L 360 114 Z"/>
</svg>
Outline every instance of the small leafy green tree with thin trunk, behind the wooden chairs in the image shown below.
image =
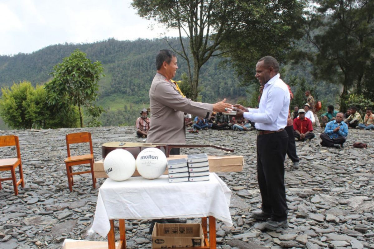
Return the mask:
<svg viewBox="0 0 374 249">
<path fill-rule="evenodd" d="M 98 81 L 102 75 L 101 62 L 91 62 L 86 54 L 79 49 L 65 57 L 62 63 L 54 66 L 53 80 L 45 85 L 49 94 L 49 104 L 68 106 L 71 103 L 78 106 L 80 127 L 83 127 L 82 107 L 88 108 L 88 113 L 97 118 L 103 109 L 93 105 L 98 97 Z M 64 109 L 67 112 L 73 109 Z"/>
</svg>

